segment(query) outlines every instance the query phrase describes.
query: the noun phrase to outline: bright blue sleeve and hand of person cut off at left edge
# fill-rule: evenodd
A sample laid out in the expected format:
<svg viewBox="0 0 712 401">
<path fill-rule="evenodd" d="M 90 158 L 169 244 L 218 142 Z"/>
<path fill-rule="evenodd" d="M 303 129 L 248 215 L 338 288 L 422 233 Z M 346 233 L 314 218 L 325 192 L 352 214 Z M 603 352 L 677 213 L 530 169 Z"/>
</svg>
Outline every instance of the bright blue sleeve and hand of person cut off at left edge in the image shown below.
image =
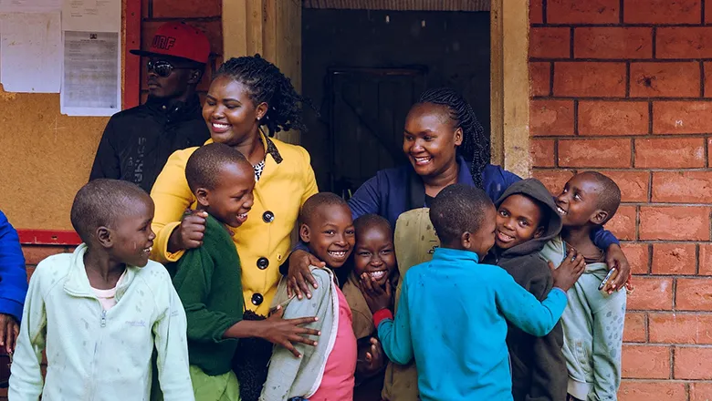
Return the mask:
<svg viewBox="0 0 712 401">
<path fill-rule="evenodd" d="M 25 256 L 17 231 L 0 211 L 0 349 L 15 349 L 27 294 Z"/>
</svg>

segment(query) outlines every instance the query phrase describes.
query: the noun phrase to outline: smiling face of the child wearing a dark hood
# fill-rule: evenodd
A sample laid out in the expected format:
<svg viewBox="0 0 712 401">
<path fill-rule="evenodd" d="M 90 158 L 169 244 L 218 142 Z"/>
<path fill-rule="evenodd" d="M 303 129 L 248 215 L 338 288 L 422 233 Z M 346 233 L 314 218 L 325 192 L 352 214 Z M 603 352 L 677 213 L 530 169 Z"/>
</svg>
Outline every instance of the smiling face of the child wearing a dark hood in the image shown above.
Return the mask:
<svg viewBox="0 0 712 401">
<path fill-rule="evenodd" d="M 497 209 L 497 248 L 509 249 L 539 238 L 544 232 L 544 227 L 539 226 L 541 215 L 539 204 L 528 196 L 508 196 Z"/>
</svg>

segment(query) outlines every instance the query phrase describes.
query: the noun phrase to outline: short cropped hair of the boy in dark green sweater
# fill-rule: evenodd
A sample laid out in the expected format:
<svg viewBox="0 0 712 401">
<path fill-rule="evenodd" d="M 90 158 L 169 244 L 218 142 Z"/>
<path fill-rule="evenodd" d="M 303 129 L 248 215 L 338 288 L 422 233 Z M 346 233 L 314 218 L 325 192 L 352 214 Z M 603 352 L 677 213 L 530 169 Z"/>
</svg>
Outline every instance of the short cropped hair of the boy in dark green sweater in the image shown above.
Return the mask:
<svg viewBox="0 0 712 401">
<path fill-rule="evenodd" d="M 188 180 L 188 187 L 193 192 L 198 188 L 215 190 L 220 180 L 220 170 L 231 163 L 245 163 L 252 169 L 252 165 L 242 153 L 224 143 L 209 143 L 195 149 L 185 163 L 185 180 Z"/>
</svg>

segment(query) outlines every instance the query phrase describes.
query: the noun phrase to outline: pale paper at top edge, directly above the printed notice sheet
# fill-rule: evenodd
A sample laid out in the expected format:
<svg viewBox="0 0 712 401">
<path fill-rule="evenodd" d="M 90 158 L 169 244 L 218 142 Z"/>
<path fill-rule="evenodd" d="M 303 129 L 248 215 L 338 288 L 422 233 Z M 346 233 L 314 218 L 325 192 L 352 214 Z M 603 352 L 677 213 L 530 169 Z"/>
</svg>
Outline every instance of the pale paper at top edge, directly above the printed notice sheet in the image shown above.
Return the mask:
<svg viewBox="0 0 712 401">
<path fill-rule="evenodd" d="M 65 31 L 120 32 L 121 0 L 64 0 Z"/>
</svg>

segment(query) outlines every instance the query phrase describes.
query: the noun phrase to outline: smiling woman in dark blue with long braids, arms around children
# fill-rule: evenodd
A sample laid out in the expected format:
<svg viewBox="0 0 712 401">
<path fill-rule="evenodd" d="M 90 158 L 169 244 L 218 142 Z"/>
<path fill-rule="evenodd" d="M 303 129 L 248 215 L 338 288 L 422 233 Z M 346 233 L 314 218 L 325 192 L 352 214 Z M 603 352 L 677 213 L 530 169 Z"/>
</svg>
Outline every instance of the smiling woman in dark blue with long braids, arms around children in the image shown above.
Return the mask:
<svg viewBox="0 0 712 401">
<path fill-rule="evenodd" d="M 455 183 L 481 188 L 497 200 L 521 179 L 489 164 L 489 149 L 489 138 L 465 98 L 450 88 L 425 91 L 405 118 L 403 153 L 410 164 L 381 170 L 364 182 L 349 200 L 353 218 L 377 213 L 395 227 L 403 211 L 429 206 L 440 190 Z M 596 245 L 607 251 L 609 267 L 618 267 L 613 284 L 622 288 L 630 266 L 618 240 L 604 230 L 593 236 Z M 289 256 L 288 279 L 299 297 L 302 292 L 310 297 L 307 282 L 315 284 L 309 264 L 323 265 L 303 246 Z"/>
</svg>

